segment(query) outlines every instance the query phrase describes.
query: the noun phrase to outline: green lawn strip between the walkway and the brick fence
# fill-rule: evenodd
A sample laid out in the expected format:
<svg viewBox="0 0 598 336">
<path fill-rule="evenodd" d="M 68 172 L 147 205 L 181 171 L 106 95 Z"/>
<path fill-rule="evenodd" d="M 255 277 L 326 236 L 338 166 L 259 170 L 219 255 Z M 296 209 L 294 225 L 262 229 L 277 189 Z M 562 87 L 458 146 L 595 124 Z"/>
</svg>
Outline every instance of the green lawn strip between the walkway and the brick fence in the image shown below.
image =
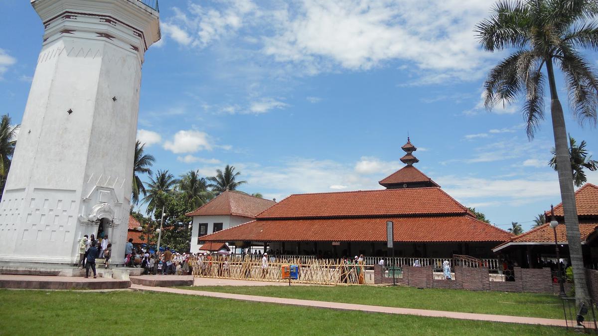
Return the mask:
<svg viewBox="0 0 598 336">
<path fill-rule="evenodd" d="M 563 319 L 561 300 L 556 295 L 548 294 L 417 289 L 407 286 L 213 286 L 180 288 L 266 297 L 369 304 L 372 306 Z"/>
</svg>

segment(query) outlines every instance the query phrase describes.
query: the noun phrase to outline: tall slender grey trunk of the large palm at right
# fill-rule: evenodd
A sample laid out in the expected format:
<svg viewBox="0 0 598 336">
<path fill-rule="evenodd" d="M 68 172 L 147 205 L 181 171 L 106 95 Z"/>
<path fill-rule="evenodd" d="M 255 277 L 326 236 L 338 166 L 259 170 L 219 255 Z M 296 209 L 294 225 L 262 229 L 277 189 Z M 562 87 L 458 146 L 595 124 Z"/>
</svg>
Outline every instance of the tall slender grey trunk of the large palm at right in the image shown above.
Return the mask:
<svg viewBox="0 0 598 336">
<path fill-rule="evenodd" d="M 553 120 L 557 172 L 559 173 L 560 193 L 563 201 L 563 212 L 565 213 L 569 257 L 573 267 L 573 279 L 575 279 L 575 297 L 585 300 L 589 299 L 590 295 L 585 277 L 584 257 L 581 249 L 581 235 L 579 234 L 579 221 L 577 218 L 577 206 L 575 204 L 575 189 L 573 188 L 573 172 L 571 170 L 571 159 L 569 157 L 565 118 L 563 117 L 563 107 L 561 106 L 559 96 L 557 95 L 556 84 L 554 83 L 554 72 L 551 59 L 548 59 L 546 62 L 546 68 L 548 71 L 548 82 L 550 83 L 550 112 Z"/>
</svg>

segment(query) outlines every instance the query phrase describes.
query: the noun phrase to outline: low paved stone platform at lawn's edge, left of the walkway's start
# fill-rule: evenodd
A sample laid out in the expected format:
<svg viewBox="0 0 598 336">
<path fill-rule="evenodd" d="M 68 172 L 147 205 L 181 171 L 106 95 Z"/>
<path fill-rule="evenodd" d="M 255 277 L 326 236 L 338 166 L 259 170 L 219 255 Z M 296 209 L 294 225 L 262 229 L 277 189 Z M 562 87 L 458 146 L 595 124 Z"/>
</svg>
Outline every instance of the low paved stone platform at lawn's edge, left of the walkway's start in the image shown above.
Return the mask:
<svg viewBox="0 0 598 336">
<path fill-rule="evenodd" d="M 0 274 L 0 288 L 15 289 L 122 289 L 129 288 L 129 280 L 98 277 L 85 279 L 71 276 L 28 276 Z"/>
</svg>

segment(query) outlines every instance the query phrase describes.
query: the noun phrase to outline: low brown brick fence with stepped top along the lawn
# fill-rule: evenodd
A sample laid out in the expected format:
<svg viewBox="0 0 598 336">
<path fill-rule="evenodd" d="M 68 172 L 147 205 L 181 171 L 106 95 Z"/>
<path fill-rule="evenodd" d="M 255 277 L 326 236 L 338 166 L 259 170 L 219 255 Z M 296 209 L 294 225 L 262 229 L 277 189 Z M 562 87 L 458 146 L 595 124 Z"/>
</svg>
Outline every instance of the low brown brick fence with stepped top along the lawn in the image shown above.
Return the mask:
<svg viewBox="0 0 598 336">
<path fill-rule="evenodd" d="M 471 291 L 533 292 L 559 293 L 559 284 L 553 283 L 550 268 L 514 268 L 514 281 L 490 281 L 487 267 L 454 267 L 454 280 L 435 280 L 432 267 L 402 267 L 402 278 L 397 278 L 398 285 L 418 288 L 469 289 Z M 591 276 L 596 280 L 594 294 L 598 294 L 598 271 Z M 385 277 L 385 268 L 374 267 L 374 283 L 392 283 L 392 277 Z M 569 291 L 570 283 L 565 283 Z M 594 296 L 596 300 L 596 296 Z"/>
</svg>

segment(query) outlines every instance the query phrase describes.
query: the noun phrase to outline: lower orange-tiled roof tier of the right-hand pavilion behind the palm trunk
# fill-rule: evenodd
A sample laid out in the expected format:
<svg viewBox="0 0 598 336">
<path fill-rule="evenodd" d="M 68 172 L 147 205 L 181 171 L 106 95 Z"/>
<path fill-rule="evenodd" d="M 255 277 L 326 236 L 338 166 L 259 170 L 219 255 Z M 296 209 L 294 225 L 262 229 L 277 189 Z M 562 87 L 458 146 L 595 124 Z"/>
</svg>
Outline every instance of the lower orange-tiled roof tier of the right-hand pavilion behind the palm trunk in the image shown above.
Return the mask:
<svg viewBox="0 0 598 336">
<path fill-rule="evenodd" d="M 598 228 L 598 221 L 579 223 L 579 235 L 581 237 L 581 241 L 585 242 L 585 240 L 588 239 L 588 236 L 590 236 L 590 234 L 593 233 L 596 230 L 596 228 Z M 559 244 L 567 243 L 567 229 L 565 227 L 565 224 L 560 224 L 559 226 L 557 226 L 557 242 L 559 242 Z M 513 245 L 513 243 L 554 244 L 554 230 L 550 227 L 550 224 L 548 223 L 541 225 L 539 227 L 527 231 L 526 233 L 513 237 L 508 242 L 496 246 L 496 248 L 494 248 L 494 251 L 499 251 L 502 248 L 506 248 L 509 245 Z"/>
</svg>

